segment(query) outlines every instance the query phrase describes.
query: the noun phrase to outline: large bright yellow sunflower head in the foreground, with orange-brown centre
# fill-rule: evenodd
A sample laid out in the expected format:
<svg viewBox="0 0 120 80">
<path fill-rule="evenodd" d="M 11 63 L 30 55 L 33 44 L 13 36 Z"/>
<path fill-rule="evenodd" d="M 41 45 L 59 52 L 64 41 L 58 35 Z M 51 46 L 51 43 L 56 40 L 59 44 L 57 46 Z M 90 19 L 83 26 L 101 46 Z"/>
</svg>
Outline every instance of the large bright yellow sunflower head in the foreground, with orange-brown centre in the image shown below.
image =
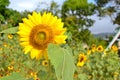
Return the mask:
<svg viewBox="0 0 120 80">
<path fill-rule="evenodd" d="M 63 28 L 61 19 L 51 13 L 33 12 L 27 18 L 23 18 L 23 23 L 19 23 L 20 44 L 24 47 L 24 52 L 30 52 L 32 59 L 48 58 L 47 47 L 49 43 L 66 43 L 67 36 L 64 35 L 66 28 Z"/>
</svg>

